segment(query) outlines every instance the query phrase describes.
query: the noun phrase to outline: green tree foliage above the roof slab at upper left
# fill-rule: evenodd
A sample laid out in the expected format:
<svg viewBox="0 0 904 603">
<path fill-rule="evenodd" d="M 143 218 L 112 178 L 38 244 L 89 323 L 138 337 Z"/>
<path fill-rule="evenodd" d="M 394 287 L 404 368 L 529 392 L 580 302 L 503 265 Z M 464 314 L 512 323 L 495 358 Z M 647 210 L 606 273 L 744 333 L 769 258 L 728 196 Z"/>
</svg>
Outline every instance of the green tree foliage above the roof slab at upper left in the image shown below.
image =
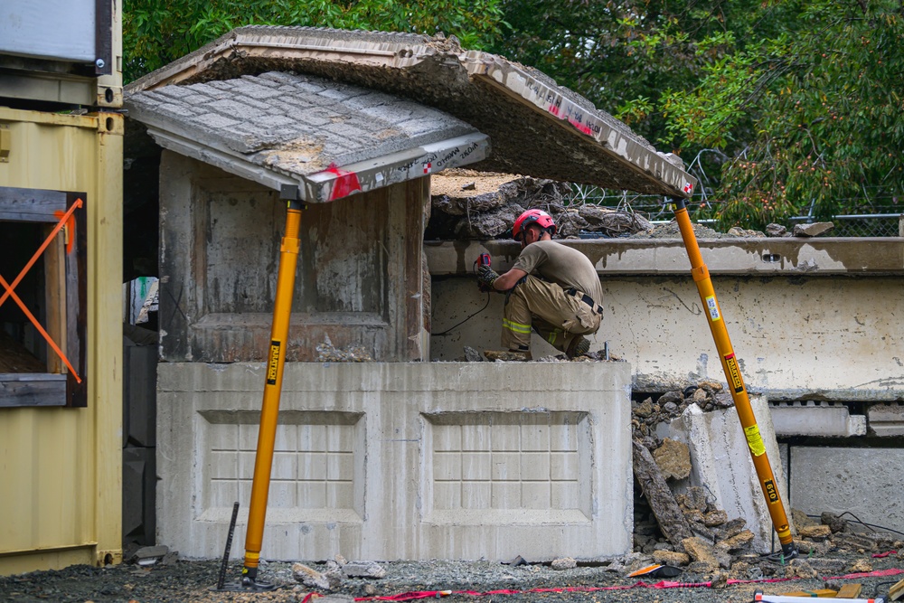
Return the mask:
<svg viewBox="0 0 904 603">
<path fill-rule="evenodd" d="M 249 24 L 456 35 L 481 49 L 501 34 L 499 0 L 125 0 L 126 81 Z"/>
</svg>

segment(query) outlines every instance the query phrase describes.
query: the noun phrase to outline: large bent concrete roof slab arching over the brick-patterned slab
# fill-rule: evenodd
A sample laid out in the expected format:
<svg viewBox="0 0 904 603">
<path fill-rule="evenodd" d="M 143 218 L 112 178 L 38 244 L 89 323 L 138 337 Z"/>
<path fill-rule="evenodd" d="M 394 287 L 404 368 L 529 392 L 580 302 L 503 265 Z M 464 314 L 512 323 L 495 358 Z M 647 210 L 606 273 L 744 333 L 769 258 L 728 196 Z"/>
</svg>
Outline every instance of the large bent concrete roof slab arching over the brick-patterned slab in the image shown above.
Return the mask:
<svg viewBox="0 0 904 603">
<path fill-rule="evenodd" d="M 466 51 L 455 38 L 241 27 L 136 80 L 126 95 L 268 71 L 321 76 L 455 116 L 490 137 L 493 150 L 476 169 L 681 197 L 696 185 L 680 158 L 657 152 L 587 99 L 540 71 Z"/>
</svg>

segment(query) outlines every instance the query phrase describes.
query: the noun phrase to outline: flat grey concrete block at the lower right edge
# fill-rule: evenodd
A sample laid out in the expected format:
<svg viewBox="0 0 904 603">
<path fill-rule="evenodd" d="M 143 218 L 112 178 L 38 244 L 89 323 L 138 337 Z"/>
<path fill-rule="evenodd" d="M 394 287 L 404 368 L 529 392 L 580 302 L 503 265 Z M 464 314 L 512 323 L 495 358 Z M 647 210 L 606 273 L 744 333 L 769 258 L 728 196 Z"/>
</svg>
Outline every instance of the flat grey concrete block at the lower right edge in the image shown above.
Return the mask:
<svg viewBox="0 0 904 603">
<path fill-rule="evenodd" d="M 815 515 L 850 511 L 862 522 L 904 532 L 904 448 L 792 446 L 789 464 L 796 509 Z"/>
</svg>

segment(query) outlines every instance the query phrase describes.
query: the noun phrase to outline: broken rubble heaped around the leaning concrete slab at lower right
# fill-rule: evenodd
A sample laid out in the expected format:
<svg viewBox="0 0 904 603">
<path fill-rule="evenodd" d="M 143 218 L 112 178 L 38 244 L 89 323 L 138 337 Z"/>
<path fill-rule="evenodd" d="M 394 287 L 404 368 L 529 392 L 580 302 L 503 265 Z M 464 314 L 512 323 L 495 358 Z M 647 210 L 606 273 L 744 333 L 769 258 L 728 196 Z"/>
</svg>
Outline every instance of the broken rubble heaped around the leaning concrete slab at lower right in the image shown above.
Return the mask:
<svg viewBox="0 0 904 603">
<path fill-rule="evenodd" d="M 729 518 L 705 485 L 680 486 L 692 472 L 688 447 L 657 436 L 658 425 L 680 417 L 692 405 L 711 412 L 733 406 L 733 400 L 720 383 L 699 382 L 684 391 L 667 391 L 655 401 L 649 397 L 632 404 L 634 548 L 644 554 L 635 565 L 652 561 L 679 567 L 718 584 L 725 579 L 815 578 L 871 571 L 872 553 L 904 550 L 899 536 L 864 532 L 833 513 L 824 512 L 817 521 L 792 510 L 800 557 L 776 563 L 753 551 L 754 533 L 743 518 Z"/>
</svg>

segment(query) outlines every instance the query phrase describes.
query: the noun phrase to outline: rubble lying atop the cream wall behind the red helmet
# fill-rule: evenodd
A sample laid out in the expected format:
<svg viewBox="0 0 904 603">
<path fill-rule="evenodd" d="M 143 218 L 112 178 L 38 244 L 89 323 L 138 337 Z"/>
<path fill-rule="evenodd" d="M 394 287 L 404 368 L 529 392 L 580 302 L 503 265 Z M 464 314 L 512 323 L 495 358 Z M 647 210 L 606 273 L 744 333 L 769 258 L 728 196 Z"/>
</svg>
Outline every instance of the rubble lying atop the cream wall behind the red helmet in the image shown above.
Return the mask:
<svg viewBox="0 0 904 603">
<path fill-rule="evenodd" d="M 431 178 L 431 208 L 427 240 L 493 240 L 511 237 L 515 219 L 524 211 L 541 209 L 556 221 L 559 239 L 617 238 L 679 239 L 672 221 L 654 225 L 643 214 L 577 203 L 570 184 L 554 180 L 449 169 Z M 796 224 L 792 231 L 769 224 L 766 232 L 733 227 L 728 232 L 694 225 L 698 239 L 815 237 L 833 228 L 832 222 Z"/>
</svg>

